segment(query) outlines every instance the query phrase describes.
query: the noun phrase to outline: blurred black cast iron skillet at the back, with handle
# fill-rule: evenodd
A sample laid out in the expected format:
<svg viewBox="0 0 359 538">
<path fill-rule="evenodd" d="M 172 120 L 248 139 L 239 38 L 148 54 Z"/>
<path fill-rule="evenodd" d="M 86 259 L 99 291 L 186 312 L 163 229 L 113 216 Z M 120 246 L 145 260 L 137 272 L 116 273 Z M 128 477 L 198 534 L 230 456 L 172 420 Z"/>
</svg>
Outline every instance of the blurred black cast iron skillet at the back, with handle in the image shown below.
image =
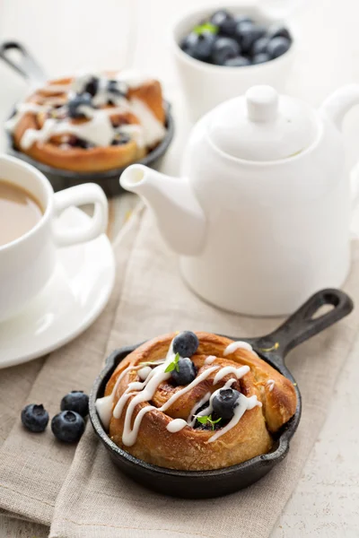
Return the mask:
<svg viewBox="0 0 359 538">
<path fill-rule="evenodd" d="M 12 57 L 13 51 L 16 51 L 19 56 L 17 60 L 14 60 Z M 14 71 L 21 74 L 22 77 L 30 82 L 41 83 L 48 80 L 48 77 L 42 71 L 41 67 L 39 67 L 37 62 L 21 43 L 16 41 L 5 41 L 2 43 L 0 45 L 0 58 L 2 58 L 7 65 L 10 65 Z M 162 142 L 159 143 L 152 152 L 148 153 L 144 159 L 141 159 L 141 161 L 138 161 L 139 164 L 145 164 L 147 166 L 151 165 L 153 168 L 158 168 L 161 165 L 164 153 L 171 143 L 174 134 L 171 106 L 167 101 L 164 102 L 164 106 L 166 108 L 165 125 L 167 133 Z M 17 151 L 13 147 L 12 135 L 9 133 L 6 133 L 6 135 L 9 143 L 7 152 L 18 159 L 22 159 L 22 161 L 32 164 L 32 166 L 43 172 L 55 191 L 73 187 L 74 185 L 79 185 L 81 183 L 92 182 L 100 185 L 108 196 L 114 196 L 124 192 L 118 183 L 118 178 L 126 167 L 104 172 L 72 172 L 71 170 L 56 169 L 31 159 L 31 157 L 25 153 Z"/>
</svg>

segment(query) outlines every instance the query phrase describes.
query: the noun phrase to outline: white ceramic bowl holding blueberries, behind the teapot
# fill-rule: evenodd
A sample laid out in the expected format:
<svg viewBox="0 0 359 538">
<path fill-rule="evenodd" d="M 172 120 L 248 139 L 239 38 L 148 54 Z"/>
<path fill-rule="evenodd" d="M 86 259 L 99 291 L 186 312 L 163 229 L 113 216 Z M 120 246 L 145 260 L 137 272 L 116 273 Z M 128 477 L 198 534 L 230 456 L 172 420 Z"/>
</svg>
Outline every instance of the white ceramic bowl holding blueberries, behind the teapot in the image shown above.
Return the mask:
<svg viewBox="0 0 359 538">
<path fill-rule="evenodd" d="M 226 67 L 206 64 L 188 56 L 180 48 L 180 40 L 199 22 L 206 19 L 217 9 L 228 9 L 236 15 L 249 15 L 254 21 L 270 26 L 278 22 L 275 16 L 267 13 L 263 7 L 250 4 L 220 5 L 197 8 L 176 22 L 171 31 L 172 49 L 180 74 L 180 81 L 188 104 L 189 114 L 196 120 L 223 100 L 241 95 L 255 84 L 269 84 L 277 91 L 285 91 L 285 82 L 293 65 L 295 39 L 291 48 L 283 56 L 266 64 L 248 65 L 246 67 Z M 283 21 L 282 21 L 283 22 Z M 293 30 L 287 22 L 285 26 Z"/>
</svg>

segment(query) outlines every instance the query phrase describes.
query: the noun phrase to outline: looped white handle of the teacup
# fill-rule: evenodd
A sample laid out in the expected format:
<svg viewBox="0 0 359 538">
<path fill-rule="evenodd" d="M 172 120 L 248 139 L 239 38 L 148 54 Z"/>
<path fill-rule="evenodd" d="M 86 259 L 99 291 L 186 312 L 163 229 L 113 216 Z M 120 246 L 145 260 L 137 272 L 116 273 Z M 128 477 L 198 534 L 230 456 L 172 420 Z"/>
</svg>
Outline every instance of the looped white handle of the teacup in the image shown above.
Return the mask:
<svg viewBox="0 0 359 538">
<path fill-rule="evenodd" d="M 67 207 L 72 205 L 93 204 L 92 219 L 84 226 L 61 230 L 58 227 L 57 217 Z M 66 188 L 54 195 L 55 221 L 53 222 L 53 235 L 58 247 L 70 247 L 76 243 L 84 243 L 97 238 L 106 231 L 109 206 L 107 198 L 101 187 L 94 183 L 76 185 Z"/>
</svg>

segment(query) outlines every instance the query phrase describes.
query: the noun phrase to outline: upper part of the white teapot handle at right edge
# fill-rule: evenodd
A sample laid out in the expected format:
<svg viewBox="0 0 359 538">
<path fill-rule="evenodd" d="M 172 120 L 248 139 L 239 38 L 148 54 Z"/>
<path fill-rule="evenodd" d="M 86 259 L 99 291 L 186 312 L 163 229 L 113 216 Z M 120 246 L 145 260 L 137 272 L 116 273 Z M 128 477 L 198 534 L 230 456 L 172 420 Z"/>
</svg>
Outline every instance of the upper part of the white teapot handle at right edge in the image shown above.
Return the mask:
<svg viewBox="0 0 359 538">
<path fill-rule="evenodd" d="M 346 117 L 346 113 L 359 104 L 359 84 L 348 84 L 332 93 L 321 105 L 324 112 L 339 130 Z"/>
</svg>

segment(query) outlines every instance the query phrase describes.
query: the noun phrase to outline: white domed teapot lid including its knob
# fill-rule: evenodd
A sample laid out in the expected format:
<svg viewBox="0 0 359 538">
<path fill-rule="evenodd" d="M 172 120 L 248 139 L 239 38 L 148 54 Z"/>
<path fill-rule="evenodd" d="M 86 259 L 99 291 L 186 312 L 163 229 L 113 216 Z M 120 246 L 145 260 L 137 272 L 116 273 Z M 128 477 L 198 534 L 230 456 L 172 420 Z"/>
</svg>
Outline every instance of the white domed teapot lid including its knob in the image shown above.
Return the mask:
<svg viewBox="0 0 359 538">
<path fill-rule="evenodd" d="M 207 132 L 215 146 L 246 161 L 293 157 L 313 143 L 318 131 L 308 105 L 266 85 L 223 102 L 208 120 Z"/>
</svg>

